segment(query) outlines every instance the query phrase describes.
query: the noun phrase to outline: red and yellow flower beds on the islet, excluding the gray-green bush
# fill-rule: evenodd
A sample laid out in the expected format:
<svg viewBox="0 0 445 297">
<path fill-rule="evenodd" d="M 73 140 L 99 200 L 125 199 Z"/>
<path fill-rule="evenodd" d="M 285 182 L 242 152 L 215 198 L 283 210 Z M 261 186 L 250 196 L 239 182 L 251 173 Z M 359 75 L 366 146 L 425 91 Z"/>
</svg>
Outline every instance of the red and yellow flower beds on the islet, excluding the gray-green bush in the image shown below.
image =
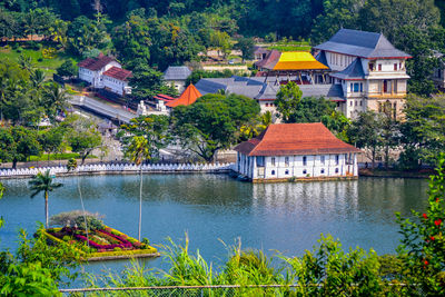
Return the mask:
<svg viewBox="0 0 445 297">
<path fill-rule="evenodd" d="M 83 229 L 70 227 L 47 229 L 44 234 L 56 244 L 76 246 L 87 259 L 115 256 L 121 258 L 145 254 L 157 256 L 156 248 L 107 226 L 103 229 L 89 230 L 88 238 Z"/>
</svg>

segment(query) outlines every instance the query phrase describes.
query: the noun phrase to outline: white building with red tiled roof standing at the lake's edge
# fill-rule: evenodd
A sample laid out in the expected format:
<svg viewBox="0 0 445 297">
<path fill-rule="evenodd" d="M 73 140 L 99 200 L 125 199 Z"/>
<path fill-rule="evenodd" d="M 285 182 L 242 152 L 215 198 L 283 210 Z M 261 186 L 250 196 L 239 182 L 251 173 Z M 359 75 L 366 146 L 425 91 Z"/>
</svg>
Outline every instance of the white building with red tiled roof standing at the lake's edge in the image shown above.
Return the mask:
<svg viewBox="0 0 445 297">
<path fill-rule="evenodd" d="M 320 122 L 270 125 L 235 150 L 235 170 L 254 182 L 358 177 L 360 150 L 336 138 Z"/>
</svg>

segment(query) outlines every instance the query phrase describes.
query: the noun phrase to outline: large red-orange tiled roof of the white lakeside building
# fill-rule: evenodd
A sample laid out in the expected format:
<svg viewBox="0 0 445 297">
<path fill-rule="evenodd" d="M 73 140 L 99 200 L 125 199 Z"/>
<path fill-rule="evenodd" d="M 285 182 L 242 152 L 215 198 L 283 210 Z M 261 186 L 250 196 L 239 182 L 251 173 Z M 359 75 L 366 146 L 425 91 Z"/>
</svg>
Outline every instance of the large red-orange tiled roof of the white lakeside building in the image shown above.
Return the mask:
<svg viewBox="0 0 445 297">
<path fill-rule="evenodd" d="M 247 156 L 360 152 L 336 138 L 322 122 L 270 125 L 258 137 L 235 147 Z"/>
</svg>

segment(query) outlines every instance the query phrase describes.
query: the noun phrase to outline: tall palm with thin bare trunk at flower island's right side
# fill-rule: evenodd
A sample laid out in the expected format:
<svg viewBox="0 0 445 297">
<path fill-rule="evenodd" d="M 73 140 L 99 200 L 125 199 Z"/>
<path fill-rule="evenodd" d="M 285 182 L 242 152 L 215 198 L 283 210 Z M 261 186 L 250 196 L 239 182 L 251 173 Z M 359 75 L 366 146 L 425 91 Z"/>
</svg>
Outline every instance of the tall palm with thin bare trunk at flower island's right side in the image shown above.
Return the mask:
<svg viewBox="0 0 445 297">
<path fill-rule="evenodd" d="M 126 151 L 127 157 L 139 165 L 140 170 L 140 179 L 139 179 L 139 241 L 140 241 L 140 230 L 141 230 L 141 222 L 142 222 L 142 164 L 144 160 L 148 160 L 151 158 L 150 148 L 148 145 L 147 138 L 144 136 L 135 136 Z"/>
</svg>

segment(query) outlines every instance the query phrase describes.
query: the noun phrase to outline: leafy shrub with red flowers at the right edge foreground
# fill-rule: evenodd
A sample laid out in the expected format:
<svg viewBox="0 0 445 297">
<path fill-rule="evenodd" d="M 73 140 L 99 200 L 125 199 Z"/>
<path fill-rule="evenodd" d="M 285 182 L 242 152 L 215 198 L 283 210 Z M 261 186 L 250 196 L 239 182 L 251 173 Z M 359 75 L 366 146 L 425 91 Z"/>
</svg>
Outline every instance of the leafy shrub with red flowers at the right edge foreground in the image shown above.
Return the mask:
<svg viewBox="0 0 445 297">
<path fill-rule="evenodd" d="M 400 225 L 402 245 L 398 248 L 404 269 L 403 276 L 416 295 L 422 289 L 425 296 L 444 296 L 445 270 L 445 155 L 439 156 L 436 176 L 431 177 L 428 206 L 425 212 L 413 210 L 416 221 L 405 219 L 396 214 Z"/>
</svg>

